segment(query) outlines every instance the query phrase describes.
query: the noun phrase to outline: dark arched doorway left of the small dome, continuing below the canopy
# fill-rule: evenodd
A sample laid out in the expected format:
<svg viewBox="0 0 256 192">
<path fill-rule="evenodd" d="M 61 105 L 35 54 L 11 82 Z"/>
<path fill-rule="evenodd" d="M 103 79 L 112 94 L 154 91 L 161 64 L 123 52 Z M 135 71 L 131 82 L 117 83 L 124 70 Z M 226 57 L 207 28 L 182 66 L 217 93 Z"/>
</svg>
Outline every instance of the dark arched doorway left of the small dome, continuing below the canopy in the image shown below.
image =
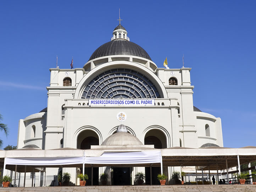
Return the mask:
<svg viewBox="0 0 256 192">
<path fill-rule="evenodd" d="M 99 136 L 92 130 L 84 130 L 77 137 L 77 148 L 78 149 L 90 149 L 91 145 L 99 145 Z M 83 169 L 80 168 L 81 173 Z M 88 185 L 91 185 L 91 167 L 85 167 L 84 173 L 87 174 L 89 180 Z M 99 185 L 99 168 L 93 168 L 93 185 Z"/>
</svg>

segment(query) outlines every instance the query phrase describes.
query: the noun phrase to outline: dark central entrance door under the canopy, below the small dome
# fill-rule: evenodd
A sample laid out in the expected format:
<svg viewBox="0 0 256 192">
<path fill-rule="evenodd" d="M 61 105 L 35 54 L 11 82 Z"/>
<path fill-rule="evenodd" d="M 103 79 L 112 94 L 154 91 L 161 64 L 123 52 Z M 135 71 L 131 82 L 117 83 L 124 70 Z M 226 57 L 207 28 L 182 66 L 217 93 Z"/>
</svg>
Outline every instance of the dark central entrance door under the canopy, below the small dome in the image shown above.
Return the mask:
<svg viewBox="0 0 256 192">
<path fill-rule="evenodd" d="M 113 167 L 113 184 L 130 185 L 131 168 L 130 167 Z"/>
</svg>

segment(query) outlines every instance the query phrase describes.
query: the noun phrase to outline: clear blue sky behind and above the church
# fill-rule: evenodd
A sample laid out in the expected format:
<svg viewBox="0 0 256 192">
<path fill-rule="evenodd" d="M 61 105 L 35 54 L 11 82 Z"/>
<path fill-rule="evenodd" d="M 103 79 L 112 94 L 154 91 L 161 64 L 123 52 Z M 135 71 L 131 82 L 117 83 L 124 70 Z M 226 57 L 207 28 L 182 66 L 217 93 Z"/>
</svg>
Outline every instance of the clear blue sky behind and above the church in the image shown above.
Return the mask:
<svg viewBox="0 0 256 192">
<path fill-rule="evenodd" d="M 119 3 L 120 2 L 120 3 Z M 0 1 L 0 114 L 17 144 L 18 120 L 46 107 L 49 68 L 82 68 L 118 24 L 158 67 L 191 67 L 194 106 L 220 117 L 224 147 L 256 146 L 256 1 Z"/>
</svg>

